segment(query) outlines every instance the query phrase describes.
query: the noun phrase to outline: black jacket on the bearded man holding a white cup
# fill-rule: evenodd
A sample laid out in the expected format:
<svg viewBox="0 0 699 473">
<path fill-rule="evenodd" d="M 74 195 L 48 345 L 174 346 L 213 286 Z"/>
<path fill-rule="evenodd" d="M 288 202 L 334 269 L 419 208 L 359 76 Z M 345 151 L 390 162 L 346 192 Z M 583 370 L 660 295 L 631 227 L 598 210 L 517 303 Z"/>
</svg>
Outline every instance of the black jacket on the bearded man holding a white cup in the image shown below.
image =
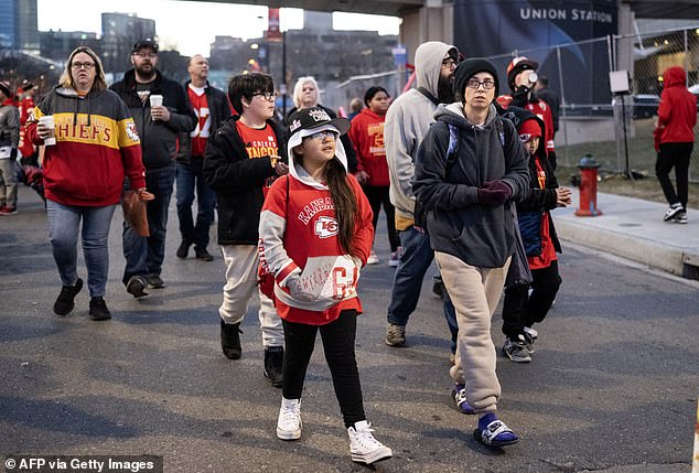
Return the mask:
<svg viewBox="0 0 699 473">
<path fill-rule="evenodd" d="M 141 139 L 146 171 L 174 165 L 180 132 L 190 132 L 196 127 L 196 115 L 182 86 L 155 71 L 150 92 L 163 96 L 163 105 L 170 110 L 170 121 L 151 119 L 150 101 L 142 101 L 136 92 L 133 69 L 127 71 L 123 79 L 109 88 L 119 94 L 131 111 Z"/>
</svg>

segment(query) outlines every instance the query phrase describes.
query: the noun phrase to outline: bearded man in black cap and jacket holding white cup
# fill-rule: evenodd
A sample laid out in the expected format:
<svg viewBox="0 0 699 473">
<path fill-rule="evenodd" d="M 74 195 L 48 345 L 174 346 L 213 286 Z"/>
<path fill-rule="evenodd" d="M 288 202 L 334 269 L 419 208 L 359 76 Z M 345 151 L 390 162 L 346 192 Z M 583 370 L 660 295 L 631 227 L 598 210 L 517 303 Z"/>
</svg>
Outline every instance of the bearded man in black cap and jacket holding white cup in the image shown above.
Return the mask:
<svg viewBox="0 0 699 473">
<path fill-rule="evenodd" d="M 146 288 L 165 287 L 160 273 L 165 256 L 178 136 L 194 129 L 196 116 L 182 86 L 158 71 L 158 43 L 152 40 L 136 43 L 131 64 L 133 68 L 110 88 L 119 94 L 133 116 L 143 150 L 146 184 L 155 195 L 155 200 L 148 203 L 149 237 L 139 236 L 123 223 L 126 268 L 122 281 L 127 292 L 141 298 L 148 294 Z"/>
</svg>

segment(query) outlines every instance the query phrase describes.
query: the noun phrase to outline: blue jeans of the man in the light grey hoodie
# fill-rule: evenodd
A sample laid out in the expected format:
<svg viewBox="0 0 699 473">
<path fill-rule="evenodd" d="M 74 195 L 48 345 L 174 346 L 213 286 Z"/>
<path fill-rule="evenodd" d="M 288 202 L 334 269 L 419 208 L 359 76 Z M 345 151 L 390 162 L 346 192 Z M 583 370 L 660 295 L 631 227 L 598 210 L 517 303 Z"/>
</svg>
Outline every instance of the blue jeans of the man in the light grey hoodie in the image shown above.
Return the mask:
<svg viewBox="0 0 699 473">
<path fill-rule="evenodd" d="M 415 227 L 399 232 L 398 237 L 402 246 L 402 255 L 396 268 L 387 320 L 388 323 L 405 326 L 418 305 L 422 279 L 434 259 L 434 251 L 430 247 L 430 236 L 418 232 Z M 451 332 L 451 350 L 454 353 L 459 325 L 454 305 L 447 290 L 444 290 L 444 319 Z"/>
</svg>

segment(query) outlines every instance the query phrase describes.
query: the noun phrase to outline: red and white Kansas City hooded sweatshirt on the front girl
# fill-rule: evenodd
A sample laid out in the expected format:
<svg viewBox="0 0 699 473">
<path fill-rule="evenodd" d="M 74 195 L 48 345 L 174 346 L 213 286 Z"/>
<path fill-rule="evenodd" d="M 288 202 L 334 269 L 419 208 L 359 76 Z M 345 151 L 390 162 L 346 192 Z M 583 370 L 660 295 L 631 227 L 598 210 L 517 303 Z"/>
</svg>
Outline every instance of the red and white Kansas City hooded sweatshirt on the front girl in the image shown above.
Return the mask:
<svg viewBox="0 0 699 473">
<path fill-rule="evenodd" d="M 341 141 L 336 157 L 346 169 Z M 260 269 L 275 276 L 277 312 L 289 322 L 324 325 L 343 310 L 362 312 L 356 289 L 372 251 L 373 214 L 357 180 L 347 174 L 347 183 L 357 201 L 357 257 L 340 245 L 330 190 L 293 162 L 291 150 L 289 175 L 275 181 L 267 194 L 259 225 Z"/>
</svg>

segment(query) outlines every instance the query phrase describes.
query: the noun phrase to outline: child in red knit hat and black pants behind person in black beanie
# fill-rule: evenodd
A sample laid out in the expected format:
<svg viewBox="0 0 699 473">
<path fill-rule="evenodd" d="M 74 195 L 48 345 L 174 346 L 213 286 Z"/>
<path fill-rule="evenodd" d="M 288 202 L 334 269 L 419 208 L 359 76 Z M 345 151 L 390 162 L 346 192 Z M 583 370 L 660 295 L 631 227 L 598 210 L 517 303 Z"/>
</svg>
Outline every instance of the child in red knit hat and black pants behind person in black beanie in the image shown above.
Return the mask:
<svg viewBox="0 0 699 473">
<path fill-rule="evenodd" d="M 531 326 L 544 321 L 561 283 L 558 258 L 561 246 L 550 211 L 571 204 L 569 189 L 559 187 L 552 163 L 547 159 L 544 121 L 519 107 L 507 109 L 519 139 L 529 152 L 531 192 L 517 203 L 519 232 L 531 269 L 531 284 L 505 288 L 503 301 L 503 354 L 516 363 L 531 361 L 538 332 Z M 531 289 L 529 291 L 529 289 Z"/>
</svg>

